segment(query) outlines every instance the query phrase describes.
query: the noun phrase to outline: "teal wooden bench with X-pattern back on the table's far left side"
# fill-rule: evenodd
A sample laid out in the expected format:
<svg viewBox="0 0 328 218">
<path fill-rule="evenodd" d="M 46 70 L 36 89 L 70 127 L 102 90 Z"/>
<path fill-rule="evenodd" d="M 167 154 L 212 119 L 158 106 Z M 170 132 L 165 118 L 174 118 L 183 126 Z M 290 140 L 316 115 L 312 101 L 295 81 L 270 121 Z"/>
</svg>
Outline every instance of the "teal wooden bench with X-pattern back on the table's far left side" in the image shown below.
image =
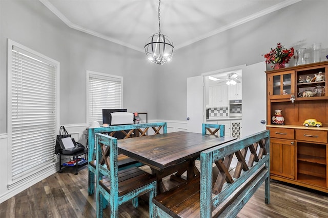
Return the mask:
<svg viewBox="0 0 328 218">
<path fill-rule="evenodd" d="M 167 133 L 167 123 L 148 123 L 148 124 L 132 124 L 132 125 L 119 125 L 119 126 L 109 126 L 109 127 L 98 127 L 98 128 L 89 128 L 88 129 L 88 195 L 94 194 L 94 185 L 95 185 L 95 174 L 96 174 L 96 150 L 95 150 L 95 134 L 96 133 L 106 133 L 113 135 L 116 131 L 121 131 L 126 136 L 125 138 L 132 137 L 132 133 L 136 132 L 138 135 L 134 137 L 145 136 L 149 132 L 148 130 L 152 129 L 153 134 Z M 101 159 L 101 164 L 105 164 L 105 160 Z M 126 169 L 131 166 L 141 166 L 142 164 L 138 161 L 135 161 L 132 158 L 129 158 L 125 155 L 118 155 L 118 170 Z"/>
</svg>

